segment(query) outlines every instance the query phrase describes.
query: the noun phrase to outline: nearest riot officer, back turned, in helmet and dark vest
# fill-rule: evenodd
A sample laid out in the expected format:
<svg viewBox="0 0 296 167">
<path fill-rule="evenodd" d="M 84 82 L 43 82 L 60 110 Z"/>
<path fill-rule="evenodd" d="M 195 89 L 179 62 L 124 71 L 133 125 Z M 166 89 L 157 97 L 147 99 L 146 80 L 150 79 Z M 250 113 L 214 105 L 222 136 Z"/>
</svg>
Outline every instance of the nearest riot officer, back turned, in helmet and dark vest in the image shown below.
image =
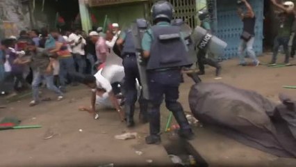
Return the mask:
<svg viewBox="0 0 296 167">
<path fill-rule="evenodd" d="M 148 29 L 142 39 L 143 58 L 147 60 L 147 81 L 149 87 L 148 120 L 150 135 L 147 144 L 161 143 L 160 106 L 165 95 L 167 109 L 172 111 L 181 129 L 179 136 L 192 139 L 194 134 L 186 119 L 179 99 L 181 67 L 192 65 L 188 49 L 181 36 L 179 26 L 170 24 L 173 15 L 172 4 L 158 1 L 152 6 L 154 26 Z"/>
</svg>

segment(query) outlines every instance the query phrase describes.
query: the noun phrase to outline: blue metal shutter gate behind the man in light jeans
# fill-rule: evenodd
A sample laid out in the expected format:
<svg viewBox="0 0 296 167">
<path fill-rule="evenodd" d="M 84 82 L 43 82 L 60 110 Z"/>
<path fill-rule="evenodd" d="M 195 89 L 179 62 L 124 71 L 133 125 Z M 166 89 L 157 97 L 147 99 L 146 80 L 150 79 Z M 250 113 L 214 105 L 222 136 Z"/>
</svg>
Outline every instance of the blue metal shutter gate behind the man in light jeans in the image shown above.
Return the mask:
<svg viewBox="0 0 296 167">
<path fill-rule="evenodd" d="M 213 0 L 209 0 L 213 1 Z M 236 0 L 214 0 L 216 10 L 213 11 L 213 27 L 217 37 L 227 42 L 225 54 L 221 58 L 227 60 L 238 56 L 238 45 L 240 44 L 240 35 L 242 33 L 242 21 L 237 14 Z M 263 52 L 263 0 L 249 0 L 256 15 L 255 42 L 254 50 L 256 55 Z M 217 13 L 217 14 L 216 14 Z"/>
</svg>

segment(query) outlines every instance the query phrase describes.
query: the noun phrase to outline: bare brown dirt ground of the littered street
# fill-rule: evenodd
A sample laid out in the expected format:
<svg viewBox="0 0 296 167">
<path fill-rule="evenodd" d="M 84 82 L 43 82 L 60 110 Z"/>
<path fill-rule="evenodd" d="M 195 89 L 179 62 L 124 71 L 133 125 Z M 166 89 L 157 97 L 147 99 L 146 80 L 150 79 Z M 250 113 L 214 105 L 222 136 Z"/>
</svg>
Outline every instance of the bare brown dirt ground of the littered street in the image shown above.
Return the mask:
<svg viewBox="0 0 296 167">
<path fill-rule="evenodd" d="M 261 62 L 268 63 L 270 56 L 270 54 L 266 54 L 264 57 L 260 57 Z M 281 61 L 283 61 L 283 56 L 279 57 L 279 62 Z M 274 102 L 279 102 L 277 98 L 279 93 L 286 93 L 296 99 L 296 90 L 282 88 L 284 85 L 296 85 L 296 66 L 240 67 L 237 63 L 238 60 L 222 62 L 221 80 L 215 80 L 215 70 L 212 67 L 207 67 L 206 75 L 202 76 L 202 79 L 205 82 L 223 82 L 238 88 L 255 90 Z M 291 63 L 296 63 L 296 61 L 293 60 Z M 185 81 L 180 89 L 180 102 L 183 104 L 184 110 L 190 112 L 188 91 L 193 82 L 187 77 Z M 90 104 L 90 90 L 84 86 L 72 89 L 65 95 L 65 100 L 61 102 L 43 102 L 38 106 L 29 107 L 28 102 L 31 99 L 26 98 L 7 104 L 6 109 L 0 109 L 0 119 L 15 116 L 22 120 L 21 125 L 42 125 L 40 129 L 1 131 L 0 166 L 99 166 L 110 163 L 115 165 L 131 163 L 153 165 L 154 163 L 167 164 L 170 162 L 161 145 L 145 145 L 144 138 L 148 133 L 148 125 L 137 124 L 138 127 L 134 129 L 126 129 L 124 123 L 119 121 L 117 113 L 110 110 L 100 111 L 99 120 L 94 120 L 89 113 L 78 111 L 79 106 Z M 51 94 L 49 96 L 54 97 Z M 162 112 L 162 124 L 164 124 L 168 114 L 164 106 Z M 138 120 L 137 116 L 136 113 L 135 120 Z M 198 131 L 198 129 L 195 130 Z M 54 137 L 44 139 L 44 135 L 48 132 L 53 132 Z M 118 141 L 114 138 L 115 135 L 124 132 L 138 132 L 138 137 L 129 141 Z M 199 132 L 197 133 L 199 134 Z M 197 140 L 200 138 L 200 141 L 210 141 L 208 145 L 219 145 L 218 142 L 221 141 L 230 142 L 228 138 L 223 136 L 211 135 L 211 132 L 205 133 L 210 135 L 197 135 Z M 220 154 L 218 148 L 211 147 L 206 150 L 205 147 L 205 145 L 202 147 L 204 149 L 203 155 L 207 156 L 205 157 L 207 160 L 213 160 L 214 156 Z M 240 146 L 238 151 L 233 150 L 232 157 L 227 159 L 230 162 L 239 161 L 236 159 L 238 156 L 236 153 L 244 152 L 244 147 Z M 218 153 L 211 157 L 211 152 Z M 256 152 L 262 157 L 266 157 L 261 161 L 276 159 L 276 157 L 254 149 L 246 151 L 245 155 L 241 157 L 252 157 Z M 231 155 L 231 153 L 229 154 Z M 152 163 L 149 163 L 151 161 Z M 224 161 L 228 160 L 224 159 Z"/>
</svg>

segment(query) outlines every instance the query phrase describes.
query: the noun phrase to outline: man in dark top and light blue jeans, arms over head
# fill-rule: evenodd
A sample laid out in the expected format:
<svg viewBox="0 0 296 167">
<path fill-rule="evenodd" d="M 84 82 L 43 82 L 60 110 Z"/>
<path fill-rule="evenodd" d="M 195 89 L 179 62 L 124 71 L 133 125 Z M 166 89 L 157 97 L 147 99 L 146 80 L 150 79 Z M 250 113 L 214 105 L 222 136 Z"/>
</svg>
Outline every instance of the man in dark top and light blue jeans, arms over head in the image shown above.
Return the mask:
<svg viewBox="0 0 296 167">
<path fill-rule="evenodd" d="M 243 30 L 242 35 L 240 36 L 240 46 L 238 47 L 238 56 L 240 56 L 240 65 L 245 66 L 247 65 L 245 61 L 245 55 L 243 51 L 247 49 L 247 54 L 255 66 L 258 66 L 260 62 L 256 58 L 255 51 L 253 49 L 254 40 L 255 40 L 255 23 L 256 23 L 256 16 L 253 11 L 252 6 L 247 2 L 247 0 L 242 0 L 242 3 L 245 4 L 247 8 L 246 13 L 242 13 L 242 8 L 238 7 L 238 15 L 243 22 Z"/>
</svg>

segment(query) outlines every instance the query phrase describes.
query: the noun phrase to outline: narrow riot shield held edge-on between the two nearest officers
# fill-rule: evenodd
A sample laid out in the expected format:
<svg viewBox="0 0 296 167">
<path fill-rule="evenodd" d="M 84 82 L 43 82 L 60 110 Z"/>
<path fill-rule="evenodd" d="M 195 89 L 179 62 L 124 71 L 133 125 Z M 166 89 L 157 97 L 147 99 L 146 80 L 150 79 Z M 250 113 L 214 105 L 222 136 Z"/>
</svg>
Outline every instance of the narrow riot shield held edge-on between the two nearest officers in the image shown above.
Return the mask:
<svg viewBox="0 0 296 167">
<path fill-rule="evenodd" d="M 146 73 L 146 64 L 141 62 L 142 60 L 142 38 L 145 31 L 148 29 L 148 22 L 145 19 L 136 19 L 135 23 L 132 24 L 131 30 L 133 33 L 133 43 L 136 49 L 136 57 L 138 62 L 138 70 L 140 73 L 140 82 L 142 86 L 142 96 L 148 100 L 149 99 L 149 90 L 147 84 L 147 73 Z"/>
</svg>

